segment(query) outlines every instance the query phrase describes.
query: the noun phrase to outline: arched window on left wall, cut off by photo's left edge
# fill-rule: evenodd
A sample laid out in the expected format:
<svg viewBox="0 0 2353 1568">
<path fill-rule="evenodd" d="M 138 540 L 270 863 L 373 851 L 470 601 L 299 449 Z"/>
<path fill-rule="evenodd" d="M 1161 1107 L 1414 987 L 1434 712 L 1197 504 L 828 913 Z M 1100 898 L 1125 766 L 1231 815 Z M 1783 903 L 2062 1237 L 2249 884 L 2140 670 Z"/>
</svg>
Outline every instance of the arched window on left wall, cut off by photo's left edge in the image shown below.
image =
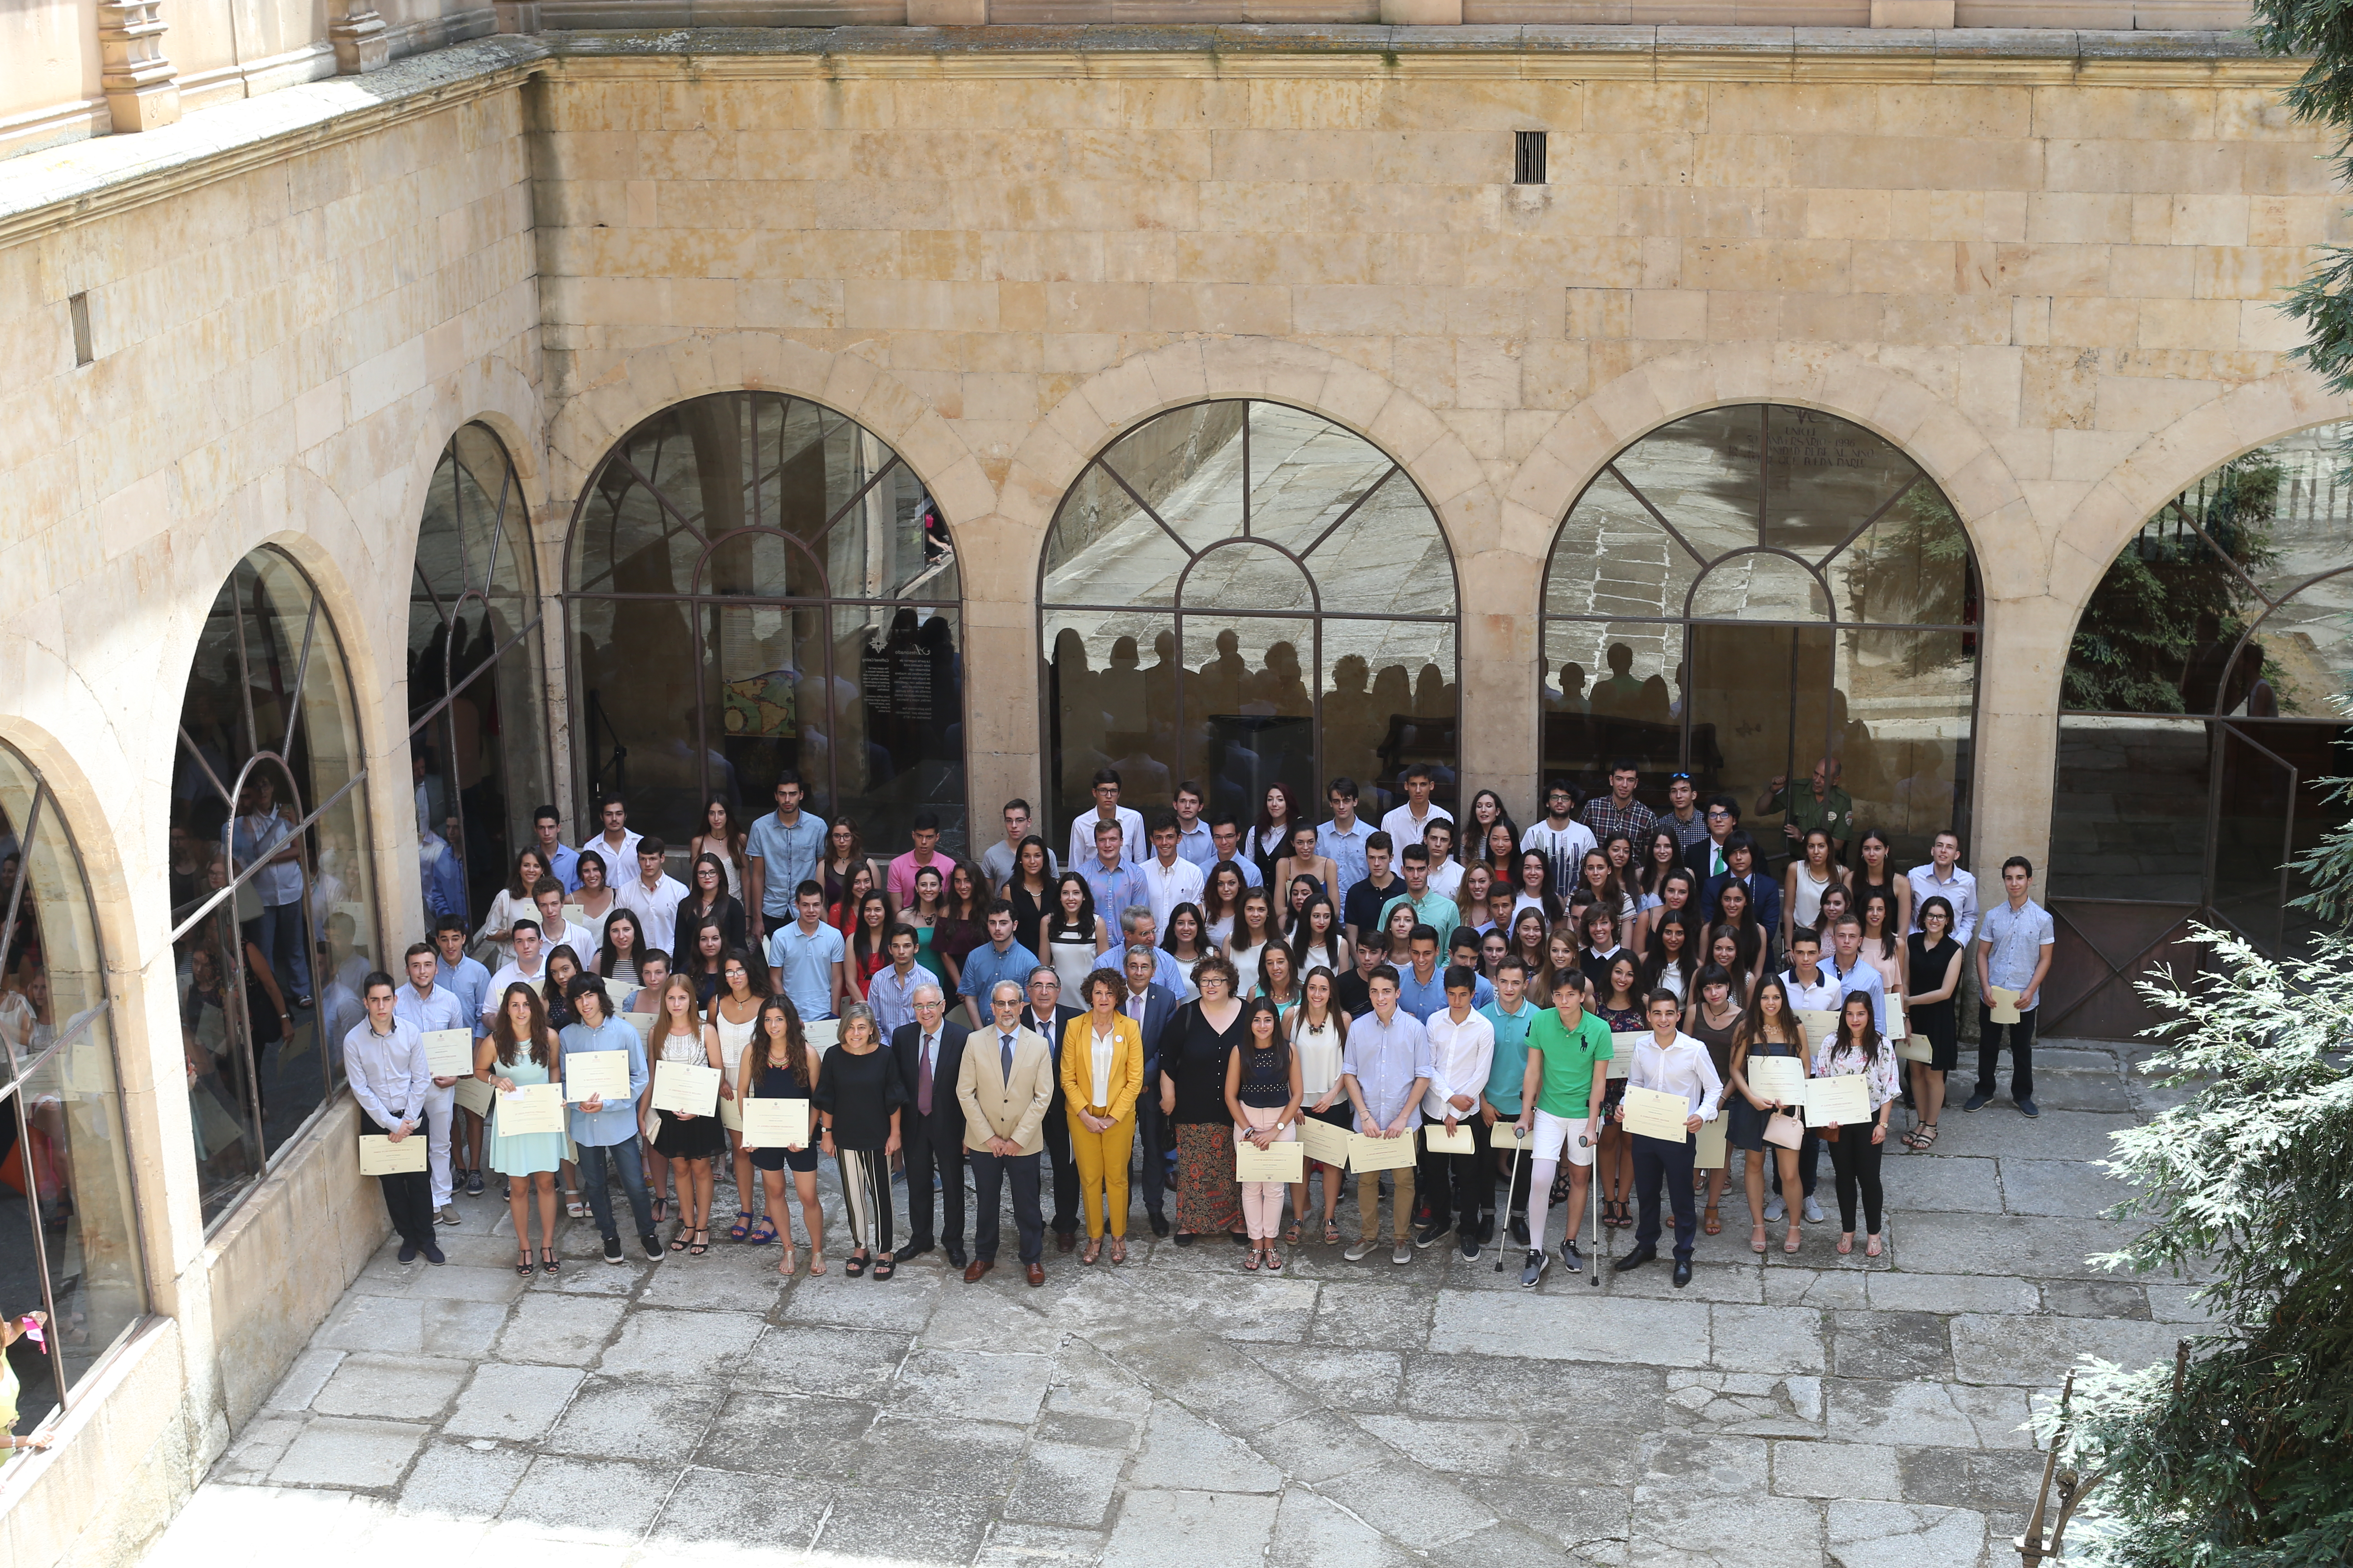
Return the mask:
<svg viewBox="0 0 2353 1568">
<path fill-rule="evenodd" d="M 56 795 L 0 745 L 0 1269 L 12 1312 L 49 1312 L 49 1354 L 16 1340 L 16 1429 L 71 1403 L 146 1314 L 129 1150 L 89 884 Z"/>
</svg>

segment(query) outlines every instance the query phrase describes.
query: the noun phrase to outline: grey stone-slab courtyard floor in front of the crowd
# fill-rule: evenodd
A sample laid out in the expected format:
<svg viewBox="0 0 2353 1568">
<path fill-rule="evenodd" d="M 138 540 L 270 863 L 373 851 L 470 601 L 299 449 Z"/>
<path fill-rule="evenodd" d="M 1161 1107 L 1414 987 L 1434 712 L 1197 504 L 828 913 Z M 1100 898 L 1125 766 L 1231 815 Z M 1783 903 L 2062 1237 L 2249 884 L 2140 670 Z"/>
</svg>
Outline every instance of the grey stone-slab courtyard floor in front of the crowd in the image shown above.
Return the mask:
<svg viewBox="0 0 2353 1568">
<path fill-rule="evenodd" d="M 1035 1291 L 936 1251 L 875 1284 L 838 1218 L 824 1279 L 725 1241 L 602 1267 L 572 1222 L 525 1284 L 506 1206 L 459 1199 L 449 1267 L 386 1246 L 146 1561 L 2014 1563 L 2031 1403 L 2202 1316 L 2087 1262 L 2125 1234 L 2094 1161 L 2165 1091 L 2132 1048 L 2038 1058 L 2040 1121 L 1889 1145 L 1885 1258 L 1833 1251 L 1824 1161 L 1802 1253 L 1755 1260 L 1732 1199 L 1687 1291 L 1452 1246 L 1266 1279 L 1141 1225 L 1120 1269 L 1049 1241 Z"/>
</svg>

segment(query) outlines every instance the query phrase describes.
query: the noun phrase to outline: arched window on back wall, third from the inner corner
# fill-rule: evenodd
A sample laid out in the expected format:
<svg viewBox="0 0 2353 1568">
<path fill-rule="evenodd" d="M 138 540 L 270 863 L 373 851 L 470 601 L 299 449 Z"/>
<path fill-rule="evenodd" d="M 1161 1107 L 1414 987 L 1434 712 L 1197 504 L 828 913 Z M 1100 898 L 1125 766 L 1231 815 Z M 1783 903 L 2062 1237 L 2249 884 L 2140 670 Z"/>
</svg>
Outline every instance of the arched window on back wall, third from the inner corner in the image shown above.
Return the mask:
<svg viewBox="0 0 2353 1568">
<path fill-rule="evenodd" d="M 1852 804 L 1833 825 L 1849 863 L 1880 827 L 1918 865 L 1944 827 L 1967 842 L 1977 604 L 1944 491 L 1871 430 L 1781 404 L 1678 418 L 1617 454 L 1553 541 L 1544 771 L 1591 792 L 1631 757 L 1661 811 L 1687 773 L 1701 802 L 1739 799 L 1774 870 L 1786 778 L 1800 818 Z"/>
</svg>

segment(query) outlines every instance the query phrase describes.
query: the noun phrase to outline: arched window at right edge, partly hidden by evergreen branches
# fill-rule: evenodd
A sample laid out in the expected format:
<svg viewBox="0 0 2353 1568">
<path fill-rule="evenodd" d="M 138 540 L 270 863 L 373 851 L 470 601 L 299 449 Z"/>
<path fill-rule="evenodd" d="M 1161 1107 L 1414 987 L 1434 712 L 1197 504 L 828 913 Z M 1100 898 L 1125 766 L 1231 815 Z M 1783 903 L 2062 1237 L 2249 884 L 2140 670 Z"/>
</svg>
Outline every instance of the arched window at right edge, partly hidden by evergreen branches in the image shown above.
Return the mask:
<svg viewBox="0 0 2353 1568">
<path fill-rule="evenodd" d="M 2111 562 L 2059 691 L 2049 891 L 2078 1032 L 2148 1023 L 2132 980 L 2193 964 L 2191 919 L 2297 950 L 2311 919 L 2287 870 L 2346 816 L 2353 425 L 2257 447 L 2158 508 Z M 2052 1027 L 2052 1025 L 2045 1025 Z"/>
</svg>

